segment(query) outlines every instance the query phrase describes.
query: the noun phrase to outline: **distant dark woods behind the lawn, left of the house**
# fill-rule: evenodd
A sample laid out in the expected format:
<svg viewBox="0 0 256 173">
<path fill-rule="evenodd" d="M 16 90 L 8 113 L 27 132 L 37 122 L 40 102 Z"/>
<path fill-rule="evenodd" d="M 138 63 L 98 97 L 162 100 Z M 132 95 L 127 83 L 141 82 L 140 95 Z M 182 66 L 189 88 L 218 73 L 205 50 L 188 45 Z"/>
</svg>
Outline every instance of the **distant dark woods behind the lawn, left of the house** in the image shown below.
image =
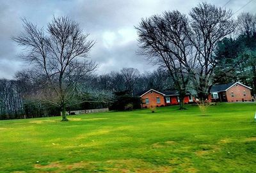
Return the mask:
<svg viewBox="0 0 256 173">
<path fill-rule="evenodd" d="M 60 116 L 60 107 L 44 100 L 42 94 L 52 91 L 45 91 L 42 80 L 33 77 L 29 70 L 17 72 L 14 80 L 0 79 L 0 119 Z M 173 89 L 167 71 L 158 68 L 140 73 L 136 68 L 123 68 L 102 75 L 90 73 L 77 81 L 66 110 L 105 107 L 125 110 L 129 103 L 136 104 L 132 108 L 139 108 L 138 94 L 150 88 Z"/>
</svg>

